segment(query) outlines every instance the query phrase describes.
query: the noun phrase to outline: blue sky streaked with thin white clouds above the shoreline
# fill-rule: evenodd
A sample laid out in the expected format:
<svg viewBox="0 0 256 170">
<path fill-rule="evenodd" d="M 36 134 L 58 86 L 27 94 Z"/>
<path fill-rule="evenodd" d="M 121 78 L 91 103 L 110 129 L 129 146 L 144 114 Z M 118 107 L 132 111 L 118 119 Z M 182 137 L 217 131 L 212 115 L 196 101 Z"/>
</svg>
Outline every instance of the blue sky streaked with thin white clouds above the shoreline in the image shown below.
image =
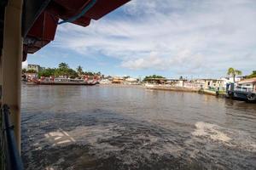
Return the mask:
<svg viewBox="0 0 256 170">
<path fill-rule="evenodd" d="M 58 26 L 23 65 L 61 62 L 112 76 L 247 75 L 256 70 L 256 1 L 131 0 L 88 27 Z"/>
</svg>

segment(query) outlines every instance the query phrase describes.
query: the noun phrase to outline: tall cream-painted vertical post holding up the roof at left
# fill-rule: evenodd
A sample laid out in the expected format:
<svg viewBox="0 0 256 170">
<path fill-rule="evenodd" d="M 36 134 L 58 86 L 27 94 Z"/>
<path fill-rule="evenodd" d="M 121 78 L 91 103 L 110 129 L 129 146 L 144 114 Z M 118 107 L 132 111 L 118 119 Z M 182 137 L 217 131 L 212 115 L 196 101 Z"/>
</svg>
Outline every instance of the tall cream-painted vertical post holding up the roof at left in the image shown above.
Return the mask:
<svg viewBox="0 0 256 170">
<path fill-rule="evenodd" d="M 21 14 L 23 0 L 9 0 L 3 28 L 3 104 L 9 105 L 20 150 L 20 79 L 22 42 Z"/>
</svg>

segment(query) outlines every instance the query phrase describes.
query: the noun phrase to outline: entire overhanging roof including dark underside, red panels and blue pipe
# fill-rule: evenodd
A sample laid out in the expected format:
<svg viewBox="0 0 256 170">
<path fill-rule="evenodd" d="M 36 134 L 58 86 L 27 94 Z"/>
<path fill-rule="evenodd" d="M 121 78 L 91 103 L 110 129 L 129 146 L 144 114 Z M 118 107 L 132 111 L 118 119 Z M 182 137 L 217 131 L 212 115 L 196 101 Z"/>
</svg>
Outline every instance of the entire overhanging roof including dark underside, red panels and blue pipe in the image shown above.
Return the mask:
<svg viewBox="0 0 256 170">
<path fill-rule="evenodd" d="M 90 20 L 99 20 L 130 0 L 24 0 L 22 14 L 23 61 L 55 39 L 58 25 L 71 22 L 89 26 Z M 0 3 L 0 48 L 3 48 L 4 7 Z M 60 20 L 62 20 L 60 22 Z"/>
</svg>

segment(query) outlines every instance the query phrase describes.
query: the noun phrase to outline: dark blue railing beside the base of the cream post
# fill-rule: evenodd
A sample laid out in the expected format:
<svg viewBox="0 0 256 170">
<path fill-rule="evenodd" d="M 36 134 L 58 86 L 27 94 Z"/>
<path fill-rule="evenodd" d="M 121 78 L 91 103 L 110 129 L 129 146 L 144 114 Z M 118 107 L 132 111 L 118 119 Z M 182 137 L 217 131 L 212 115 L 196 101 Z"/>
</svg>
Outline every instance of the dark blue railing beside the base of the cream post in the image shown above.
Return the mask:
<svg viewBox="0 0 256 170">
<path fill-rule="evenodd" d="M 9 115 L 9 106 L 3 105 L 0 116 L 0 169 L 23 170 L 23 164 L 15 140 L 15 127 L 11 125 Z"/>
</svg>

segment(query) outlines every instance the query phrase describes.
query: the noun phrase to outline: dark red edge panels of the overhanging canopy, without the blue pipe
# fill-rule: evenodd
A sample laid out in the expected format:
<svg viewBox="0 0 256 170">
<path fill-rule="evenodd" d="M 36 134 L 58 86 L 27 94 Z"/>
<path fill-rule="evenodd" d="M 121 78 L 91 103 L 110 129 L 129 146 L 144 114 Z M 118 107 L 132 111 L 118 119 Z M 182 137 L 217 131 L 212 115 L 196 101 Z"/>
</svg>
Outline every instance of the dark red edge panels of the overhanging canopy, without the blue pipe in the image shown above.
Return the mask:
<svg viewBox="0 0 256 170">
<path fill-rule="evenodd" d="M 73 24 L 79 26 L 89 26 L 90 20 L 99 20 L 104 15 L 119 8 L 130 0 L 97 0 L 96 4 L 90 8 Z M 33 54 L 40 48 L 43 48 L 49 42 L 55 39 L 55 32 L 58 26 L 58 20 L 67 20 L 77 14 L 80 14 L 90 0 L 52 0 L 44 8 L 37 20 L 29 29 L 23 44 L 23 61 L 27 54 Z"/>
</svg>

